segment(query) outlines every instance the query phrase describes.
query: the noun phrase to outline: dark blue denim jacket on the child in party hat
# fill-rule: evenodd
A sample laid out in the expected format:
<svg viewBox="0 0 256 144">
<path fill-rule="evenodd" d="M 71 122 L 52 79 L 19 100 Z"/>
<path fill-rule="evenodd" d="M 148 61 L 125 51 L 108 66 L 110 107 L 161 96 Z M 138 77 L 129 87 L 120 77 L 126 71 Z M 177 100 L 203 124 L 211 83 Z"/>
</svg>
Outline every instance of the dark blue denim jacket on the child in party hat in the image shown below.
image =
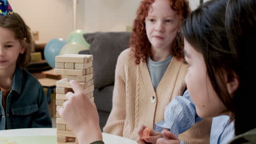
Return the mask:
<svg viewBox="0 0 256 144">
<path fill-rule="evenodd" d="M 17 67 L 6 111 L 0 91 L 0 130 L 20 128 L 51 128 L 51 118 L 42 85 L 27 70 Z"/>
</svg>

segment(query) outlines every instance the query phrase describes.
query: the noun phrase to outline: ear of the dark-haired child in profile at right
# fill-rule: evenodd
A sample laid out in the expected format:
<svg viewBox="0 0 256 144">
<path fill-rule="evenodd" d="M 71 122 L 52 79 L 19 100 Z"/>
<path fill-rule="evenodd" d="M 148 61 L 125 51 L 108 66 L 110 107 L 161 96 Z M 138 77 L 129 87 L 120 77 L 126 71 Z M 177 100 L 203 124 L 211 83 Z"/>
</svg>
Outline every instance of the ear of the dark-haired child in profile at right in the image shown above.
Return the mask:
<svg viewBox="0 0 256 144">
<path fill-rule="evenodd" d="M 232 71 L 231 74 L 226 75 L 226 88 L 228 89 L 229 94 L 233 94 L 239 87 L 238 76 Z"/>
</svg>

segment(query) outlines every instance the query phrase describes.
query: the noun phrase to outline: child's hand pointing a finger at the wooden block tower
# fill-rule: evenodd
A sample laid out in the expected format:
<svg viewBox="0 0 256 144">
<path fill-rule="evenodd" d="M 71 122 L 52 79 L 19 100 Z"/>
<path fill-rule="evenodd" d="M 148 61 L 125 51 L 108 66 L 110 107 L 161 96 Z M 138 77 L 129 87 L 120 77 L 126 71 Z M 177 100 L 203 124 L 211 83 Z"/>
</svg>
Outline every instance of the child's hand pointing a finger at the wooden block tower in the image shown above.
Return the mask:
<svg viewBox="0 0 256 144">
<path fill-rule="evenodd" d="M 91 143 L 102 140 L 99 117 L 95 104 L 89 100 L 77 81 L 71 80 L 74 93 L 66 94 L 63 108 L 58 110 L 68 128 L 77 136 L 79 143 Z"/>
</svg>

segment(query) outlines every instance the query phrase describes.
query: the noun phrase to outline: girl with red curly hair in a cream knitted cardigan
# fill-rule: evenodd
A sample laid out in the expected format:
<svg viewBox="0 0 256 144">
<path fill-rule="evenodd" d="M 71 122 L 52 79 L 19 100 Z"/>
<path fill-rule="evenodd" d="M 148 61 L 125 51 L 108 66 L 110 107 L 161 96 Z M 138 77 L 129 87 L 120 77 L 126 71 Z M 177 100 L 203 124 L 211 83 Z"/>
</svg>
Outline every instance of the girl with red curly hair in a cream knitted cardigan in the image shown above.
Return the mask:
<svg viewBox="0 0 256 144">
<path fill-rule="evenodd" d="M 137 140 L 137 127 L 164 120 L 170 101 L 185 91 L 182 21 L 190 13 L 187 0 L 143 0 L 133 22 L 130 49 L 115 70 L 113 107 L 104 133 Z M 203 127 L 203 128 L 202 128 Z M 179 135 L 187 143 L 208 143 L 211 119 Z"/>
</svg>

